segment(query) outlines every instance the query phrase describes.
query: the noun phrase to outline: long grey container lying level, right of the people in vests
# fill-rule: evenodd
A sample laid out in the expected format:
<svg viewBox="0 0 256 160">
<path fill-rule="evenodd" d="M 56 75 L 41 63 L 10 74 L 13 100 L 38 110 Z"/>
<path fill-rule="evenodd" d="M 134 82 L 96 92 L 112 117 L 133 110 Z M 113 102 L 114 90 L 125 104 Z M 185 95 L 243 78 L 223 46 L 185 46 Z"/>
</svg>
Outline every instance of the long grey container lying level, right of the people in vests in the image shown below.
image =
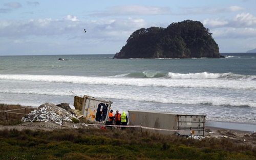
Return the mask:
<svg viewBox="0 0 256 160">
<path fill-rule="evenodd" d="M 172 131 L 151 130 L 165 135 L 204 136 L 206 115 L 167 113 L 156 110 L 128 111 L 129 125 L 142 125 Z"/>
</svg>

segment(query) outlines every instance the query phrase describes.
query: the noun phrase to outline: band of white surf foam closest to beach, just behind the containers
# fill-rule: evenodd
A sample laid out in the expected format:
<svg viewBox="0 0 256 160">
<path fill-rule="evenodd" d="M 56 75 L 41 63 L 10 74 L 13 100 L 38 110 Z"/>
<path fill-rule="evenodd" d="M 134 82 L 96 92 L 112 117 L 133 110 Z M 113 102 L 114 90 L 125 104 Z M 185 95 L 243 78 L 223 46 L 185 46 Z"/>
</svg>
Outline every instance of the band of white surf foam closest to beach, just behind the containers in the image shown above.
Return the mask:
<svg viewBox="0 0 256 160">
<path fill-rule="evenodd" d="M 47 96 L 73 96 L 73 94 L 69 93 L 67 89 L 52 89 L 51 87 L 45 89 L 37 89 L 37 88 L 24 88 L 24 89 L 5 89 L 0 90 L 0 93 L 4 94 L 29 94 L 29 95 L 47 95 Z M 87 88 L 84 86 L 84 88 Z M 163 93 L 160 90 L 156 90 L 155 92 L 160 93 L 151 93 L 151 89 L 146 89 L 144 91 L 140 91 L 139 88 L 114 88 L 113 90 L 104 89 L 102 92 L 101 87 L 95 87 L 94 90 L 89 88 L 86 93 L 84 93 L 84 88 L 80 88 L 78 90 L 74 90 L 77 95 L 82 96 L 83 94 L 88 94 L 98 98 L 107 98 L 107 99 L 119 99 L 119 100 L 129 100 L 129 101 L 146 101 L 146 102 L 158 102 L 158 103 L 172 103 L 172 104 L 199 104 L 199 105 L 214 105 L 214 106 L 240 106 L 240 107 L 252 107 L 256 108 L 256 102 L 252 99 L 245 98 L 241 96 L 241 99 L 237 99 L 237 97 L 225 97 L 222 95 L 200 95 L 194 93 L 183 93 L 176 94 L 172 92 Z M 125 91 L 124 91 L 125 90 Z M 246 96 L 246 95 L 245 95 Z"/>
</svg>

